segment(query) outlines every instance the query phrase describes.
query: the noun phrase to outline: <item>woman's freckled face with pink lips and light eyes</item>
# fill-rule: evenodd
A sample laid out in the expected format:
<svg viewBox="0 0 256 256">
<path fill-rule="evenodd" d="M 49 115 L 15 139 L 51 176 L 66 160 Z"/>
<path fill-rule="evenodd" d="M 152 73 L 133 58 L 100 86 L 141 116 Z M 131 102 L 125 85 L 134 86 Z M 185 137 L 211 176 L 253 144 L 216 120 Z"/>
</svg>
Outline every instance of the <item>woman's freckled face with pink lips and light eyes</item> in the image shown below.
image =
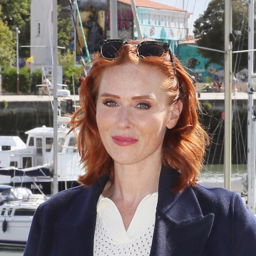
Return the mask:
<svg viewBox="0 0 256 256">
<path fill-rule="evenodd" d="M 106 68 L 99 85 L 96 120 L 114 162 L 161 161 L 166 127 L 173 128 L 164 75 L 145 64 Z"/>
</svg>

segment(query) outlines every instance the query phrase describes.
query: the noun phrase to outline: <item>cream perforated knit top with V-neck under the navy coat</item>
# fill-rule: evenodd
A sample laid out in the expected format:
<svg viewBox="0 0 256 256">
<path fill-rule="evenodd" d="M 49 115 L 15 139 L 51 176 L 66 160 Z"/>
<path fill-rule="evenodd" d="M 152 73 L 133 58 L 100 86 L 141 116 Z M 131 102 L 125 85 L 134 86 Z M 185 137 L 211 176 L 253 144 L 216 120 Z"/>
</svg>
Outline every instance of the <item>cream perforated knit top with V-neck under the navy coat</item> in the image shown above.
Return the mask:
<svg viewBox="0 0 256 256">
<path fill-rule="evenodd" d="M 127 230 L 115 203 L 100 196 L 94 234 L 94 256 L 147 256 L 150 254 L 158 192 L 139 203 Z"/>
</svg>

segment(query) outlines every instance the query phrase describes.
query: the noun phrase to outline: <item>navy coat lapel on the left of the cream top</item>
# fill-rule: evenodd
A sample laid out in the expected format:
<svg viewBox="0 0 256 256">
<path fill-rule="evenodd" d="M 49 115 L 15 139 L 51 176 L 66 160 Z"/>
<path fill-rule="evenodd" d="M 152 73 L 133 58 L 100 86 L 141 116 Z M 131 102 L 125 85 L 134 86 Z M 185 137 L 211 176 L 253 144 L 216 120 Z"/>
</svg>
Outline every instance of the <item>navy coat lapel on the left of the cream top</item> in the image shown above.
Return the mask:
<svg viewBox="0 0 256 256">
<path fill-rule="evenodd" d="M 108 176 L 103 176 L 93 186 L 85 188 L 65 215 L 55 223 L 54 256 L 93 256 L 96 207 L 108 179 Z"/>
</svg>

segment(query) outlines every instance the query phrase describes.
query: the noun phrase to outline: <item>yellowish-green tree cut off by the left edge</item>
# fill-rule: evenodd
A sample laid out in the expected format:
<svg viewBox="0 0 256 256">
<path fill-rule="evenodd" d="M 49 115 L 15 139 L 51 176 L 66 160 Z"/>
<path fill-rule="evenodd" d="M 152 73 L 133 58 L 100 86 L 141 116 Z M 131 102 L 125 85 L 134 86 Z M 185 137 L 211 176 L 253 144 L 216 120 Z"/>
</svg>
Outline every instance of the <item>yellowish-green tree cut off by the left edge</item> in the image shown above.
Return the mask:
<svg viewBox="0 0 256 256">
<path fill-rule="evenodd" d="M 7 23 L 4 23 L 0 18 L 0 66 L 9 66 L 13 63 L 15 60 L 14 45 L 15 41 Z"/>
</svg>

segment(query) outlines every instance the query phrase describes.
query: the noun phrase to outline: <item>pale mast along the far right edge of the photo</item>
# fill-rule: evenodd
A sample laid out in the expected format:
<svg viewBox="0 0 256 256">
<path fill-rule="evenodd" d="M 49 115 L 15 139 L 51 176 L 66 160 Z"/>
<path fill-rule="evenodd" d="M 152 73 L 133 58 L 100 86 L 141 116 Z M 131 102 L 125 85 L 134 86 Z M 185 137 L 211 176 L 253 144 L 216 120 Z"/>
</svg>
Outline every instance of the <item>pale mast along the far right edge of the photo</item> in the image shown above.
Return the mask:
<svg viewBox="0 0 256 256">
<path fill-rule="evenodd" d="M 254 34 L 254 1 L 249 1 L 248 4 L 248 151 L 247 151 L 247 173 L 248 173 L 248 209 L 255 214 L 255 156 L 256 156 L 256 121 L 253 108 L 253 86 L 252 86 L 252 74 L 253 74 L 253 34 Z M 251 50 L 251 51 L 250 51 Z"/>
</svg>

